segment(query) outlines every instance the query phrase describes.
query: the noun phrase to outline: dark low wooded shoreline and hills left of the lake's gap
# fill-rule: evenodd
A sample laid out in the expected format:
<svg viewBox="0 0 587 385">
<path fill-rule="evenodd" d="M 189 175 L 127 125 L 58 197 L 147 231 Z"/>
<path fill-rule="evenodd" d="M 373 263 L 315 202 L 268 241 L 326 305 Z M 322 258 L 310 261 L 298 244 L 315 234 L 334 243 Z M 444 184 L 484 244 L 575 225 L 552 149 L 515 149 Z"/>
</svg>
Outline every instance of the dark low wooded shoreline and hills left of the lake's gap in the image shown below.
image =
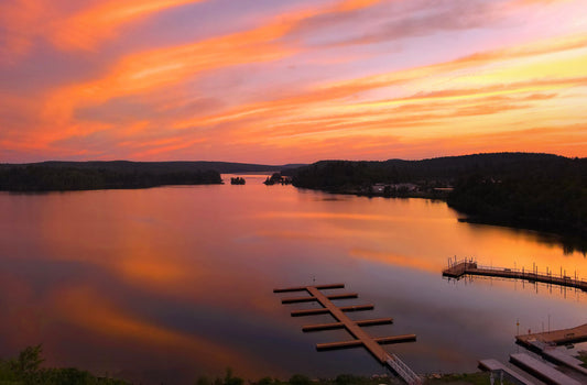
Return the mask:
<svg viewBox="0 0 587 385">
<path fill-rule="evenodd" d="M 43 162 L 0 164 L 0 190 L 65 191 L 221 184 L 220 174 L 287 166 L 226 162 Z"/>
</svg>

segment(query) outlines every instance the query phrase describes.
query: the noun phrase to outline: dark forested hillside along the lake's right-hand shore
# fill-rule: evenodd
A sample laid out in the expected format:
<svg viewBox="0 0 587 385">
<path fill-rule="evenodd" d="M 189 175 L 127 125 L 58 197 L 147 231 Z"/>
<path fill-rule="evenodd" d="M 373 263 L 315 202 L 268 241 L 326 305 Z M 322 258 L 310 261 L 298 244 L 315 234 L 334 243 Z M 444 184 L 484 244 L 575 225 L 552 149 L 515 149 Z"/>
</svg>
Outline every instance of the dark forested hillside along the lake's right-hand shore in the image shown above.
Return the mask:
<svg viewBox="0 0 587 385">
<path fill-rule="evenodd" d="M 587 158 L 497 153 L 424 161 L 324 161 L 297 168 L 292 176 L 296 187 L 443 198 L 470 221 L 587 239 Z"/>
</svg>

